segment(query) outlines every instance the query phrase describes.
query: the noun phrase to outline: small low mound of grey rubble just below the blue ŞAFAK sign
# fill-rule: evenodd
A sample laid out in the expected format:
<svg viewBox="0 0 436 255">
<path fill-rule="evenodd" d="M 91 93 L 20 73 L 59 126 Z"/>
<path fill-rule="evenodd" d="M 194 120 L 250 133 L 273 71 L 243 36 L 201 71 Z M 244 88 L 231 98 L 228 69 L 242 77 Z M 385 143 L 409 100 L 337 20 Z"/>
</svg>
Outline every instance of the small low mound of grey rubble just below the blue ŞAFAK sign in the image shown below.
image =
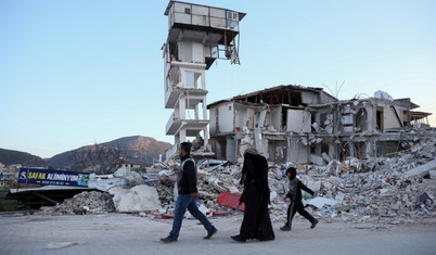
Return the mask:
<svg viewBox="0 0 436 255">
<path fill-rule="evenodd" d="M 72 199 L 65 200 L 50 209 L 46 208 L 46 214 L 65 215 L 65 214 L 102 214 L 115 211 L 112 195 L 99 191 L 84 191 Z"/>
</svg>

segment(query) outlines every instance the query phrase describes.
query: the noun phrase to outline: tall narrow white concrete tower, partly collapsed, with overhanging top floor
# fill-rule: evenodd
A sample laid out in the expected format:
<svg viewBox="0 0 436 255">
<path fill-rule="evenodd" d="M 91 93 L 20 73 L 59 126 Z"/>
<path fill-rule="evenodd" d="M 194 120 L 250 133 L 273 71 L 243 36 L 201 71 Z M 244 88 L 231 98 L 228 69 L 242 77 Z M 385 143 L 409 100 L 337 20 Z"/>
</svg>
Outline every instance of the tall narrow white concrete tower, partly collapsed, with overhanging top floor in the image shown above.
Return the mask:
<svg viewBox="0 0 436 255">
<path fill-rule="evenodd" d="M 205 71 L 217 60 L 240 64 L 238 54 L 240 21 L 245 13 L 221 8 L 170 1 L 168 37 L 163 46 L 165 107 L 174 109 L 166 135 L 175 136 L 175 146 L 187 137 L 208 144 L 207 90 Z"/>
</svg>

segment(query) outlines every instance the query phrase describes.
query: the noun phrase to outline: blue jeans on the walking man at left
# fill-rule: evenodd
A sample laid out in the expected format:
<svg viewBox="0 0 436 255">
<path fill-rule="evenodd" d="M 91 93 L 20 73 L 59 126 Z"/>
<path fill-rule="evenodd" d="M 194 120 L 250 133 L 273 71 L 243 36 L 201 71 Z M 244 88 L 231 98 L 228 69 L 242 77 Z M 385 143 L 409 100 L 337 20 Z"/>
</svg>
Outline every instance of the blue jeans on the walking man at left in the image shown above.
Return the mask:
<svg viewBox="0 0 436 255">
<path fill-rule="evenodd" d="M 179 237 L 181 224 L 183 220 L 183 215 L 187 212 L 187 209 L 202 222 L 204 228 L 210 232 L 215 229 L 215 227 L 207 220 L 206 216 L 200 212 L 198 207 L 196 206 L 196 200 L 191 197 L 191 194 L 179 194 L 177 197 L 176 202 L 176 208 L 175 208 L 175 218 L 172 221 L 172 230 L 169 233 L 169 235 L 177 240 Z"/>
</svg>

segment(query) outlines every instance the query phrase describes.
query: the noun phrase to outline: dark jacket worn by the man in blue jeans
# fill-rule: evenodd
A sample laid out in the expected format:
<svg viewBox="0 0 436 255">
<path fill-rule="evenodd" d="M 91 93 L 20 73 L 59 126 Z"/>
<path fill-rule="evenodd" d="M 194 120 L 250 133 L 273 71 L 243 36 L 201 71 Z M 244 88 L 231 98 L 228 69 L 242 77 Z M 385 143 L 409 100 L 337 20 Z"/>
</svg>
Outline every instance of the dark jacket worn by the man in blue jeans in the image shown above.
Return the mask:
<svg viewBox="0 0 436 255">
<path fill-rule="evenodd" d="M 181 158 L 177 184 L 179 194 L 197 193 L 196 167 L 194 160 L 190 155 L 185 155 Z"/>
</svg>

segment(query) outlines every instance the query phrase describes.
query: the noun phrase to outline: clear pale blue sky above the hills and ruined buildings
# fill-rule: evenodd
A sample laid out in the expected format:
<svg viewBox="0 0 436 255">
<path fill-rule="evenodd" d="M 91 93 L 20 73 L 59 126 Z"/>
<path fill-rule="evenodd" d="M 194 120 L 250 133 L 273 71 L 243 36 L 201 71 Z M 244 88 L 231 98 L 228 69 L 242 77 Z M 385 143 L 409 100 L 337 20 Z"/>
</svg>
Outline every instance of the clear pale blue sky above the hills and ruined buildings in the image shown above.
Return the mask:
<svg viewBox="0 0 436 255">
<path fill-rule="evenodd" d="M 436 1 L 192 2 L 247 13 L 241 65 L 221 60 L 206 72 L 209 103 L 295 84 L 339 99 L 384 90 L 436 113 Z M 1 0 L 0 148 L 51 157 L 127 136 L 174 142 L 161 51 L 167 4 Z"/>
</svg>

